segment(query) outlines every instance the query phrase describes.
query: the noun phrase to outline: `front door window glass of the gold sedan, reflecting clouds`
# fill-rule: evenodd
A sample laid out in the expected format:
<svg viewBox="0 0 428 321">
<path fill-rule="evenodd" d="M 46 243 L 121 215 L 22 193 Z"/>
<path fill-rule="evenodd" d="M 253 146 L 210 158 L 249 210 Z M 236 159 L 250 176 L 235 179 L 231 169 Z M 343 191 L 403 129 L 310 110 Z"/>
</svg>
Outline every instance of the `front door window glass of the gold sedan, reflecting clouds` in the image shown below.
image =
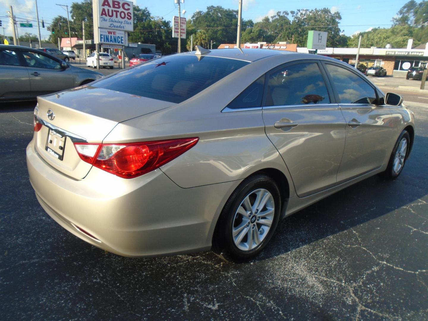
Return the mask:
<svg viewBox="0 0 428 321">
<path fill-rule="evenodd" d="M 333 86 L 339 94 L 341 103 L 366 104 L 376 100 L 375 89 L 353 72 L 335 65 L 326 64 L 333 81 Z"/>
</svg>

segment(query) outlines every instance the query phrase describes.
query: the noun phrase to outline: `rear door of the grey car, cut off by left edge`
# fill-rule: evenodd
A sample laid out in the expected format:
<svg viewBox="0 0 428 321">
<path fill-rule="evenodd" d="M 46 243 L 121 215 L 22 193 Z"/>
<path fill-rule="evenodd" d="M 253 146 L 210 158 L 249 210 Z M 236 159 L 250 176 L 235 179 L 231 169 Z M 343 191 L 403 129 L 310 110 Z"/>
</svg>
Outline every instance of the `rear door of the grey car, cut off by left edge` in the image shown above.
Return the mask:
<svg viewBox="0 0 428 321">
<path fill-rule="evenodd" d="M 18 50 L 0 49 L 0 99 L 31 97 L 30 79 Z"/>
</svg>

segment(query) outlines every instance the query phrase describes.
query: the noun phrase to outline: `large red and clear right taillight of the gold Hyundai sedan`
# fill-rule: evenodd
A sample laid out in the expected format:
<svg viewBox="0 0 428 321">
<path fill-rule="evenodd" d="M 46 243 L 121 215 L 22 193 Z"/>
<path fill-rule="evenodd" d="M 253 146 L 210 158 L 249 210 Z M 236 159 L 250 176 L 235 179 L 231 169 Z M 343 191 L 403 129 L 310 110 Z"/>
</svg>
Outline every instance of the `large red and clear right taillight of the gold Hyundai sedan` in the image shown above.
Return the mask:
<svg viewBox="0 0 428 321">
<path fill-rule="evenodd" d="M 123 178 L 134 178 L 168 163 L 195 146 L 199 137 L 143 143 L 75 143 L 80 158 Z"/>
</svg>

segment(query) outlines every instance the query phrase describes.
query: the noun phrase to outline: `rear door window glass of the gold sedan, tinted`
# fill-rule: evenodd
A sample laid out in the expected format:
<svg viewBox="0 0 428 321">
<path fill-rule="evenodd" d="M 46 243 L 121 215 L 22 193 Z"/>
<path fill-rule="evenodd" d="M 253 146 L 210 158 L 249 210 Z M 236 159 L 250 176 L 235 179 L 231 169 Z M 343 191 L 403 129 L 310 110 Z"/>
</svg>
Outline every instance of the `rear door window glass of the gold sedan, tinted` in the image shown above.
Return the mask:
<svg viewBox="0 0 428 321">
<path fill-rule="evenodd" d="M 299 63 L 274 71 L 268 77 L 266 106 L 330 104 L 316 62 Z"/>
</svg>

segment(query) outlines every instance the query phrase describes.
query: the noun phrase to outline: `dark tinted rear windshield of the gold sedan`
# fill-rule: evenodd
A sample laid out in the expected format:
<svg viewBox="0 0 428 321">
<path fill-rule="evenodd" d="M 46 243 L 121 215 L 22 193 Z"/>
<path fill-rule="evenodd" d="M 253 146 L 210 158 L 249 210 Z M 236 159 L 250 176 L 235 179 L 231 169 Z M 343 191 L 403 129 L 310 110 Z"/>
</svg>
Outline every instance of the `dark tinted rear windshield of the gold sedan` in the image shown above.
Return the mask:
<svg viewBox="0 0 428 321">
<path fill-rule="evenodd" d="M 248 63 L 237 59 L 172 55 L 127 68 L 93 86 L 181 103 Z"/>
</svg>

